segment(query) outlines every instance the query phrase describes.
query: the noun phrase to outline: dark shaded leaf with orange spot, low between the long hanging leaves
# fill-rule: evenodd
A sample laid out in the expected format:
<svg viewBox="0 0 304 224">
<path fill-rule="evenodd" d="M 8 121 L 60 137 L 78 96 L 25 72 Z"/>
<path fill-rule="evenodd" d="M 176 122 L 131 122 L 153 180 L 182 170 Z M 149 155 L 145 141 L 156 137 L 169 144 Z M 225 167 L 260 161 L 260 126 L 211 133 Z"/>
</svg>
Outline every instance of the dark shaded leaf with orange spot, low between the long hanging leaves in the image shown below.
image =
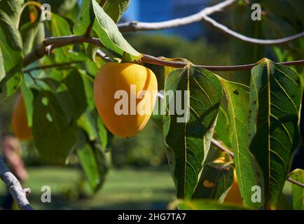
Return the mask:
<svg viewBox="0 0 304 224">
<path fill-rule="evenodd" d="M 223 202 L 233 184 L 233 165 L 225 163 L 207 163 L 193 194 L 195 198 L 205 198 Z"/>
</svg>

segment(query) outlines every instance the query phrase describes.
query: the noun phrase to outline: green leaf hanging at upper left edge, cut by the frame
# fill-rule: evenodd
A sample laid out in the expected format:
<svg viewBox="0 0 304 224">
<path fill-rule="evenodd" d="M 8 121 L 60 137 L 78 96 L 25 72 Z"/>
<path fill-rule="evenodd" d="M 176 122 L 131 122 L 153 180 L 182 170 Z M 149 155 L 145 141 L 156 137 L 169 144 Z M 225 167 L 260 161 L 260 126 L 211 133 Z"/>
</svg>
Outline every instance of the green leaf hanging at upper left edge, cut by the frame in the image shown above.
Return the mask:
<svg viewBox="0 0 304 224">
<path fill-rule="evenodd" d="M 22 38 L 4 11 L 0 10 L 0 48 L 6 71 L 6 96 L 11 96 L 22 80 Z M 3 75 L 2 75 L 3 76 Z"/>
</svg>

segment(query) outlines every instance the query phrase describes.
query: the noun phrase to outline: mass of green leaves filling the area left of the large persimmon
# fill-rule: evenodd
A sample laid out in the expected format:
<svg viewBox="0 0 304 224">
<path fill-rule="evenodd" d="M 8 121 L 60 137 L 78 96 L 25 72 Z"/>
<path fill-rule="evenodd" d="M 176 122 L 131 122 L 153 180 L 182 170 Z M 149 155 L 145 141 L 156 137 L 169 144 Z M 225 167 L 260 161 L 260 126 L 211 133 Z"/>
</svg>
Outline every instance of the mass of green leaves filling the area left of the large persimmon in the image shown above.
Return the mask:
<svg viewBox="0 0 304 224">
<path fill-rule="evenodd" d="M 95 46 L 69 45 L 53 50 L 23 68 L 23 60 L 48 36 L 83 35 L 91 25 L 113 57 L 141 55 L 116 26 L 128 1 L 0 2 L 0 89 L 5 97 L 21 90 L 34 145 L 43 162 L 66 165 L 74 153 L 93 192 L 107 171 L 106 148 L 111 138 L 97 115 L 92 85 L 99 66 Z M 51 6 L 51 19 L 40 18 L 42 3 Z M 64 15 L 64 16 L 62 16 Z M 53 65 L 57 66 L 53 66 Z M 36 69 L 36 67 L 48 67 Z"/>
</svg>

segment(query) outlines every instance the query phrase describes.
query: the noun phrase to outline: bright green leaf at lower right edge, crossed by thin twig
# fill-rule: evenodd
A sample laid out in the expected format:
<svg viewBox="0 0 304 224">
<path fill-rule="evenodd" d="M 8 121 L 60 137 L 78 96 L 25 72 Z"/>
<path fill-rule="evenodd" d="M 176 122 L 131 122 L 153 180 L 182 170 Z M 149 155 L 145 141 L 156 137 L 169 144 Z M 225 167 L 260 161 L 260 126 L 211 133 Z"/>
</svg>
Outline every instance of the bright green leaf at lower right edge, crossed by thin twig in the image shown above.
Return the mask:
<svg viewBox="0 0 304 224">
<path fill-rule="evenodd" d="M 295 169 L 289 175 L 293 181 L 304 184 L 304 170 Z M 295 210 L 304 210 L 304 188 L 292 184 L 291 186 L 292 207 Z"/>
</svg>

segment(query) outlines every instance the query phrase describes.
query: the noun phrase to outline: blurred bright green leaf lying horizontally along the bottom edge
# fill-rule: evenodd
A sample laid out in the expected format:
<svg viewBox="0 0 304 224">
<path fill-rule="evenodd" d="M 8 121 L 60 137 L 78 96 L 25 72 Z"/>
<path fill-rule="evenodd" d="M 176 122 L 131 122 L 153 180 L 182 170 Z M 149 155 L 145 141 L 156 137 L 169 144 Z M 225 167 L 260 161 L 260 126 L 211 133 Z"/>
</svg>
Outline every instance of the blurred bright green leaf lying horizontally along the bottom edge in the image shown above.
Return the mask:
<svg viewBox="0 0 304 224">
<path fill-rule="evenodd" d="M 175 209 L 176 207 L 179 210 L 244 210 L 245 207 L 240 207 L 236 204 L 220 204 L 219 202 L 213 200 L 192 200 L 192 201 L 183 201 L 177 200 L 172 202 L 169 205 L 170 209 Z"/>
</svg>

